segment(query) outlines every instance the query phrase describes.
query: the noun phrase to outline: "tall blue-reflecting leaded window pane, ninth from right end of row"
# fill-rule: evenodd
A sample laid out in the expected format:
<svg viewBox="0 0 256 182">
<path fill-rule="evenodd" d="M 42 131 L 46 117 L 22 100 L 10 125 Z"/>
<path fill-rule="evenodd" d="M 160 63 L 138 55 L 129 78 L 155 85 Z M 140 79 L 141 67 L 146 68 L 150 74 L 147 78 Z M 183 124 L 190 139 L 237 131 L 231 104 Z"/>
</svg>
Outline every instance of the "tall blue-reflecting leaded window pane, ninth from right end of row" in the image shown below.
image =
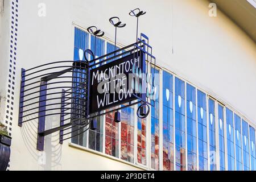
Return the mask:
<svg viewBox="0 0 256 182">
<path fill-rule="evenodd" d="M 185 171 L 185 83 L 175 77 L 175 156 L 176 170 Z"/>
</svg>

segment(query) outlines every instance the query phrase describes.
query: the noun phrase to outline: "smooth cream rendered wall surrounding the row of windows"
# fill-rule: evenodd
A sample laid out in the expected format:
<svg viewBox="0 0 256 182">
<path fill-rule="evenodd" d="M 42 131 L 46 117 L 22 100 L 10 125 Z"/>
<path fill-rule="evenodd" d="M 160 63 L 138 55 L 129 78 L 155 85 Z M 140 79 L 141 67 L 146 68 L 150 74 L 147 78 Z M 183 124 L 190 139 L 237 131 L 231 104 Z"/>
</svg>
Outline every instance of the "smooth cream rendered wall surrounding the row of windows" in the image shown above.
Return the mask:
<svg viewBox="0 0 256 182">
<path fill-rule="evenodd" d="M 46 4 L 46 17 L 38 16 L 38 5 L 42 2 Z M 136 7 L 147 11 L 140 18 L 139 32 L 150 38 L 153 54 L 160 66 L 230 105 L 256 125 L 255 42 L 220 11 L 216 18 L 210 18 L 208 5 L 209 2 L 204 0 L 19 1 L 16 102 L 10 169 L 138 169 L 75 149 L 68 145 L 68 141 L 60 146 L 59 133 L 46 138 L 46 165 L 39 165 L 36 121 L 18 127 L 20 69 L 52 61 L 72 60 L 72 23 L 84 28 L 95 25 L 113 40 L 114 27 L 109 23 L 109 18 L 119 16 L 127 26 L 118 30 L 118 42 L 123 45 L 133 43 L 136 20 L 128 13 Z M 59 121 L 58 118 L 53 119 Z"/>
</svg>

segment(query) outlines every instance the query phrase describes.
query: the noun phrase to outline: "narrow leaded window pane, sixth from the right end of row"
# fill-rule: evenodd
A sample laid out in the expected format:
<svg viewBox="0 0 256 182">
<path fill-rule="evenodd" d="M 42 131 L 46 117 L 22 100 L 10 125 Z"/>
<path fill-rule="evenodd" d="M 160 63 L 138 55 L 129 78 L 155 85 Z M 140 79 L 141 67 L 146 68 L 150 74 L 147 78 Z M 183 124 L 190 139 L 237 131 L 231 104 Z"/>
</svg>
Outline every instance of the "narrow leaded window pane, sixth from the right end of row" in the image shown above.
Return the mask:
<svg viewBox="0 0 256 182">
<path fill-rule="evenodd" d="M 209 104 L 209 145 L 210 145 L 210 171 L 216 171 L 216 139 L 215 139 L 215 104 L 212 99 Z"/>
</svg>

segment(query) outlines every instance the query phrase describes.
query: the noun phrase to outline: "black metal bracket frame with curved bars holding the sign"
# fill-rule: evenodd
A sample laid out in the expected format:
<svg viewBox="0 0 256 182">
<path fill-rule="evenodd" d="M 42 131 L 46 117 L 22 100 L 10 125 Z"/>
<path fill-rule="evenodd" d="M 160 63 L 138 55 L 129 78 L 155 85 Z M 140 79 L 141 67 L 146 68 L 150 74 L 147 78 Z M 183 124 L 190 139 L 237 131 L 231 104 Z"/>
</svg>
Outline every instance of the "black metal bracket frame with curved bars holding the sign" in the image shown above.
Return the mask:
<svg viewBox="0 0 256 182">
<path fill-rule="evenodd" d="M 90 55 L 93 56 L 92 51 L 90 51 L 89 49 L 84 52 L 84 55 L 88 52 Z M 79 131 L 78 135 L 80 135 L 86 130 L 90 129 L 90 125 L 93 125 L 93 122 L 90 121 L 93 118 L 119 111 L 121 109 L 124 109 L 125 107 L 130 107 L 136 104 L 151 105 L 150 102 L 148 102 L 146 94 L 133 93 L 134 96 L 137 98 L 137 100 L 134 102 L 129 102 L 125 106 L 121 106 L 109 111 L 101 111 L 100 113 L 94 113 L 91 115 L 88 114 L 90 89 L 90 85 L 88 83 L 90 80 L 90 69 L 93 69 L 94 67 L 96 67 L 96 65 L 102 65 L 106 63 L 106 61 L 118 61 L 115 59 L 123 55 L 133 54 L 135 58 L 139 56 L 139 53 L 143 53 L 144 55 L 143 64 L 145 65 L 143 67 L 143 73 L 148 73 L 148 70 L 152 66 L 155 67 L 155 57 L 152 55 L 152 47 L 148 44 L 148 38 L 144 34 L 141 34 L 141 37 L 138 38 L 138 42 L 117 49 L 113 52 L 107 53 L 104 56 L 97 57 L 96 59 L 94 59 L 93 56 L 93 60 L 90 61 L 56 61 L 54 63 L 43 64 L 27 70 L 22 69 L 20 81 L 18 125 L 21 127 L 22 124 L 25 122 L 38 119 L 37 149 L 43 151 L 44 137 L 46 135 L 52 134 L 56 131 L 60 131 L 60 144 L 62 144 L 64 140 L 77 136 L 72 135 L 72 137 L 65 138 L 65 136 L 67 136 L 68 134 Z M 86 57 L 85 59 L 88 60 Z M 98 63 L 96 63 L 96 61 L 98 61 Z M 147 68 L 146 61 L 148 62 Z M 73 75 L 74 72 L 77 73 L 77 76 Z M 72 76 L 67 76 L 65 74 L 72 74 Z M 82 74 L 84 74 L 84 77 L 81 77 Z M 74 81 L 74 78 L 84 81 Z M 65 79 L 65 81 L 55 81 L 56 79 Z M 67 79 L 71 79 L 71 81 Z M 69 84 L 69 86 L 63 84 Z M 142 81 L 142 88 L 146 89 L 146 81 Z M 74 89 L 79 89 L 83 92 L 77 93 L 76 91 L 73 91 Z M 52 91 L 52 93 L 47 93 L 50 90 Z M 76 94 L 79 94 L 79 96 L 76 97 Z M 33 97 L 33 95 L 35 96 Z M 48 98 L 50 96 L 56 97 Z M 53 109 L 48 108 L 49 106 L 53 105 L 60 106 L 54 107 Z M 78 107 L 75 108 L 75 105 L 77 105 Z M 82 108 L 84 109 L 81 109 L 80 106 L 82 106 Z M 76 111 L 79 112 L 76 113 Z M 146 112 L 146 115 L 148 114 L 148 112 Z M 46 117 L 50 115 L 60 115 L 60 126 L 53 129 L 45 130 Z M 70 117 L 67 117 L 68 115 L 70 115 Z M 76 117 L 74 117 L 74 115 Z M 67 121 L 69 122 L 66 123 Z M 73 129 L 73 127 L 76 126 L 78 126 L 78 129 L 68 131 L 69 129 Z"/>
</svg>

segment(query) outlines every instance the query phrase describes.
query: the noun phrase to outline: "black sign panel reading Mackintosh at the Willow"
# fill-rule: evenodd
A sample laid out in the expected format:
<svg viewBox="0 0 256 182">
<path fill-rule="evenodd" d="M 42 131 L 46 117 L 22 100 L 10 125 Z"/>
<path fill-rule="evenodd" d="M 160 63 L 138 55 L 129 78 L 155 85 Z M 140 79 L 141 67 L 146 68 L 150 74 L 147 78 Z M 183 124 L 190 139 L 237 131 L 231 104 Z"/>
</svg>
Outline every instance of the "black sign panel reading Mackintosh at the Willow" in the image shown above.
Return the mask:
<svg viewBox="0 0 256 182">
<path fill-rule="evenodd" d="M 89 114 L 137 99 L 133 80 L 144 73 L 145 67 L 144 55 L 139 51 L 91 69 Z"/>
</svg>

